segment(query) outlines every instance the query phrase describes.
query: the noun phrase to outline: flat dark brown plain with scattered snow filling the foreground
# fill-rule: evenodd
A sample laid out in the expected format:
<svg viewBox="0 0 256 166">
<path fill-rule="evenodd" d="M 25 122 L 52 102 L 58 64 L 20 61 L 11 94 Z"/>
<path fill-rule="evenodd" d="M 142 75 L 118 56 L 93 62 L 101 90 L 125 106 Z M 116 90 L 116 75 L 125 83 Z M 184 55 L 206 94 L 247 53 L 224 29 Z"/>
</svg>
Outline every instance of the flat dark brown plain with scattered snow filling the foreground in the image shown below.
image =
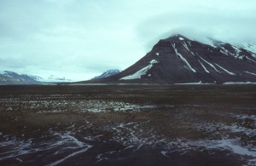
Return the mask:
<svg viewBox="0 0 256 166">
<path fill-rule="evenodd" d="M 256 86 L 0 86 L 0 165 L 256 165 Z"/>
</svg>

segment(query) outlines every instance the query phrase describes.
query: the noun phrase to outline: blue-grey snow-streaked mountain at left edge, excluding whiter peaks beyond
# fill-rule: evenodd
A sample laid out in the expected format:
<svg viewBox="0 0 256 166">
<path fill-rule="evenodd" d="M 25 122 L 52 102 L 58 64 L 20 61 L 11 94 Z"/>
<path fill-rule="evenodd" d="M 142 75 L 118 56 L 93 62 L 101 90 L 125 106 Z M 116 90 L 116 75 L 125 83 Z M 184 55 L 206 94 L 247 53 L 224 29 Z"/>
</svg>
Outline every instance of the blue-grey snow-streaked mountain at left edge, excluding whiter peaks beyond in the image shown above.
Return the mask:
<svg viewBox="0 0 256 166">
<path fill-rule="evenodd" d="M 37 79 L 40 77 L 18 74 L 16 72 L 1 71 L 0 84 L 38 84 Z"/>
</svg>

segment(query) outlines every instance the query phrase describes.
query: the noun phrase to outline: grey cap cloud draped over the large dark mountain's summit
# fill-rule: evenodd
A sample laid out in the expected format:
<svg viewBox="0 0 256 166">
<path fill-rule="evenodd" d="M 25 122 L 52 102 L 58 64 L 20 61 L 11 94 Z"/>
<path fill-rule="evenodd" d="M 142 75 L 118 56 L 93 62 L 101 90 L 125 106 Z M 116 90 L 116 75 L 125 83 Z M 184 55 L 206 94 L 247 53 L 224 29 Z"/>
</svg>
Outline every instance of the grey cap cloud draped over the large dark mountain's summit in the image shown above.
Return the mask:
<svg viewBox="0 0 256 166">
<path fill-rule="evenodd" d="M 227 42 L 253 41 L 253 38 L 255 40 L 256 34 L 253 31 L 256 22 L 252 20 L 256 18 L 256 14 L 253 10 L 247 10 L 247 14 L 236 11 L 224 13 L 218 10 L 204 12 L 180 11 L 150 17 L 138 24 L 137 35 L 142 39 L 151 40 L 147 43 L 147 48 L 152 47 L 152 43 L 157 39 L 169 37 L 174 33 L 197 39 L 201 36 L 215 37 Z"/>
</svg>

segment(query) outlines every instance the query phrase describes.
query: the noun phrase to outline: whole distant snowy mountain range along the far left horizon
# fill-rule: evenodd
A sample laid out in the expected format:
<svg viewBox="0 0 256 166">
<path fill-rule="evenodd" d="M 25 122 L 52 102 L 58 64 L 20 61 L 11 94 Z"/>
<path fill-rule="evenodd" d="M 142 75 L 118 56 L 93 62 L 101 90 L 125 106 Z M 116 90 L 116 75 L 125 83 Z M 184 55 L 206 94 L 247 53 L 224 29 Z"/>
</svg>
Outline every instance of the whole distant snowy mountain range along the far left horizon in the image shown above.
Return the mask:
<svg viewBox="0 0 256 166">
<path fill-rule="evenodd" d="M 65 77 L 49 76 L 46 79 L 38 76 L 18 74 L 16 72 L 0 71 L 0 84 L 42 84 L 42 83 L 64 83 L 72 80 Z"/>
</svg>

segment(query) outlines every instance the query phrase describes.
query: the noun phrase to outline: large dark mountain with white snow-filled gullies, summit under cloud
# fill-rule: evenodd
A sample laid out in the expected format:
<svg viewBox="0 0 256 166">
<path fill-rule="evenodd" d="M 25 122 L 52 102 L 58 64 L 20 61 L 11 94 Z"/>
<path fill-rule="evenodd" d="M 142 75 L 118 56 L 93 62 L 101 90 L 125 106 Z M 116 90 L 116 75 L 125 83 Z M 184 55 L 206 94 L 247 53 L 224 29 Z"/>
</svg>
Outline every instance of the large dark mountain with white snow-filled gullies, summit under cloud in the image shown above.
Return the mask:
<svg viewBox="0 0 256 166">
<path fill-rule="evenodd" d="M 137 63 L 96 83 L 256 82 L 253 44 L 209 40 L 210 45 L 178 34 L 162 39 Z"/>
</svg>

